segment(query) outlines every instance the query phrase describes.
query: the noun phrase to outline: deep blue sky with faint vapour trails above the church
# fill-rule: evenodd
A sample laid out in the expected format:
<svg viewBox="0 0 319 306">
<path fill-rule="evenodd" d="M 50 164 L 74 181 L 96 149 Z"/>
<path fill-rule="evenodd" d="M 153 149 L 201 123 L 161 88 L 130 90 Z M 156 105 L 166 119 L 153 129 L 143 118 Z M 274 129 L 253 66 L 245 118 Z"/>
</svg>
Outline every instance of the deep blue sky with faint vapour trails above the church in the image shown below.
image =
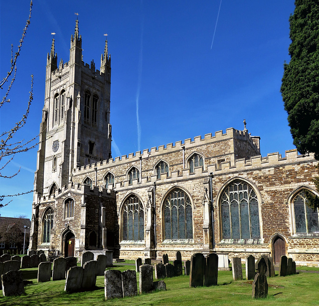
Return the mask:
<svg viewBox="0 0 319 306">
<path fill-rule="evenodd" d="M 1 78 L 28 7 L 27 0 L 0 2 Z M 39 132 L 50 33 L 56 33 L 58 61 L 68 61 L 78 12 L 86 63 L 94 59 L 99 66 L 103 34 L 109 34 L 113 157 L 231 127 L 242 130 L 243 119 L 249 132 L 261 137 L 263 156 L 284 155 L 295 148 L 280 94 L 293 11 L 293 0 L 33 0 L 11 103 L 0 110 L 0 131 L 25 110 L 33 74 L 34 100 L 18 138 Z M 0 194 L 33 188 L 36 151 L 15 156 L 2 173 L 19 166 L 21 171 L 13 179 L 0 178 Z M 32 198 L 13 198 L 1 216 L 31 217 Z"/>
</svg>

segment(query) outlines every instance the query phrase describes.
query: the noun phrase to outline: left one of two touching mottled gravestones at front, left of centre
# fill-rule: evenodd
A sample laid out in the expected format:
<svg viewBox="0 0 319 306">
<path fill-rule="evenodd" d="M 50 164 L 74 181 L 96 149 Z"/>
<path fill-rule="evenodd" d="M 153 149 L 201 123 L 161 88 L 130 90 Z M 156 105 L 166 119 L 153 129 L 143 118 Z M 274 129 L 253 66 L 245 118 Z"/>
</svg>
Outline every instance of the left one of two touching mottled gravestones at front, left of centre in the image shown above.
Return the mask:
<svg viewBox="0 0 319 306">
<path fill-rule="evenodd" d="M 105 300 L 123 298 L 122 275 L 119 270 L 108 270 L 104 273 Z"/>
</svg>

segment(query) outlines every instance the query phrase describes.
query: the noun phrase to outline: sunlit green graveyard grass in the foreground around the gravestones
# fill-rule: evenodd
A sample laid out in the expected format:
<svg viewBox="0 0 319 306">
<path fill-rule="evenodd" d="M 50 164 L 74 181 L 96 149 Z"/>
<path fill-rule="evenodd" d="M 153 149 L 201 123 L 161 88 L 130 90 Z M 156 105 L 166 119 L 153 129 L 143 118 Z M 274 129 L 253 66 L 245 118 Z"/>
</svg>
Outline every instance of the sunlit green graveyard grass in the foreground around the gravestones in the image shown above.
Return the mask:
<svg viewBox="0 0 319 306">
<path fill-rule="evenodd" d="M 134 270 L 134 266 L 116 266 L 112 269 L 125 271 Z M 299 268 L 297 268 L 298 270 Z M 315 269 L 315 268 L 314 268 Z M 179 276 L 166 278 L 167 291 L 159 291 L 137 297 L 104 299 L 104 277 L 98 276 L 97 290 L 82 293 L 67 294 L 64 292 L 65 280 L 36 283 L 37 269 L 23 269 L 24 279 L 33 281 L 33 285 L 26 286 L 25 295 L 20 297 L 2 297 L 0 292 L 0 305 L 26 306 L 26 305 L 67 305 L 67 306 L 126 306 L 126 305 L 318 305 L 319 275 L 317 273 L 300 273 L 286 277 L 276 276 L 268 278 L 268 298 L 253 300 L 252 281 L 233 281 L 231 271 L 218 271 L 218 286 L 189 288 L 189 277 Z M 317 268 L 317 271 L 319 269 Z M 277 273 L 278 274 L 278 273 Z M 243 276 L 245 270 L 243 269 Z M 139 278 L 139 273 L 137 273 Z M 154 278 L 155 279 L 155 278 Z"/>
</svg>

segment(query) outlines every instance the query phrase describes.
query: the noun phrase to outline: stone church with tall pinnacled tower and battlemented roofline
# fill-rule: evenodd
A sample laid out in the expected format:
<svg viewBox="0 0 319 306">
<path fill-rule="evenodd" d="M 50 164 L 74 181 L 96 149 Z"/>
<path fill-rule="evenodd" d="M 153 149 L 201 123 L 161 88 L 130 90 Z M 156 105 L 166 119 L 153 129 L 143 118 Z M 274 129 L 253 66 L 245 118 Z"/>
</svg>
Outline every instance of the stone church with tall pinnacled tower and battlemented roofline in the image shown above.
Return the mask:
<svg viewBox="0 0 319 306">
<path fill-rule="evenodd" d="M 260 137 L 233 128 L 112 158 L 111 57 L 82 58 L 78 20 L 70 59 L 52 40 L 34 177 L 29 250 L 50 258 L 87 250 L 170 259 L 180 251 L 292 257 L 319 265 L 319 214 L 305 190 L 318 161 L 297 150 L 260 154 Z"/>
</svg>

